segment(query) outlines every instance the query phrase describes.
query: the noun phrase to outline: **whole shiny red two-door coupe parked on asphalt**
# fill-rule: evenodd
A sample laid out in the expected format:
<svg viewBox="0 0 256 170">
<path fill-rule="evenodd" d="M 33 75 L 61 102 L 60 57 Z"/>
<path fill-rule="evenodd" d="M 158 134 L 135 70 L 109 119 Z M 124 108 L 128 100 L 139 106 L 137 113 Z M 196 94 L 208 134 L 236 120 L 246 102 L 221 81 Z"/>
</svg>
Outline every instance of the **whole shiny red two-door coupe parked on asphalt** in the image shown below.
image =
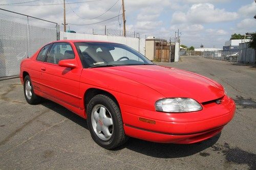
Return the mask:
<svg viewBox="0 0 256 170">
<path fill-rule="evenodd" d="M 22 61 L 19 77 L 29 104 L 46 98 L 86 118 L 93 140 L 106 149 L 128 136 L 199 142 L 220 133 L 236 108 L 219 83 L 155 65 L 118 43 L 51 42 Z"/>
</svg>

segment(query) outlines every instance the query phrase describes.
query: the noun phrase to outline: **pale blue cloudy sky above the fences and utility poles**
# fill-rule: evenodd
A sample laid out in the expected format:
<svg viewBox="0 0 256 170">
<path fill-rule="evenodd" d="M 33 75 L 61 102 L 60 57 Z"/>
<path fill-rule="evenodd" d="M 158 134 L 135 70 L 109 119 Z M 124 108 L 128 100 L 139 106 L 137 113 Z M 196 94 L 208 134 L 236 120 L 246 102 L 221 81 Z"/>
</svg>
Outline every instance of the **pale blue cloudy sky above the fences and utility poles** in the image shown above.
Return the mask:
<svg viewBox="0 0 256 170">
<path fill-rule="evenodd" d="M 31 0 L 2 0 L 0 4 L 28 2 Z M 88 0 L 66 0 L 84 2 Z M 253 0 L 124 0 L 126 10 L 126 28 L 129 32 L 139 32 L 141 37 L 156 36 L 158 38 L 174 38 L 175 31 L 180 30 L 181 43 L 187 46 L 222 47 L 229 40 L 232 33 L 255 32 L 256 3 Z M 23 5 L 39 5 L 62 3 L 62 0 L 45 0 L 26 3 Z M 116 3 L 117 2 L 117 3 Z M 116 4 L 115 4 L 116 3 Z M 114 5 L 115 4 L 115 5 Z M 108 12 L 103 14 L 106 10 Z M 121 7 L 121 0 L 101 0 L 96 2 L 70 4 L 66 6 L 67 22 L 71 30 L 78 33 L 104 33 L 104 26 L 112 30 L 112 34 L 119 34 L 118 18 L 89 26 L 89 23 L 99 22 L 117 16 Z M 6 6 L 0 8 L 28 14 L 31 16 L 63 23 L 62 5 L 54 6 Z M 74 11 L 74 12 L 73 12 Z M 17 15 L 0 11 L 0 17 L 12 19 Z M 17 19 L 18 20 L 18 19 Z M 121 16 L 119 21 L 121 21 Z M 38 25 L 32 21 L 31 24 Z M 72 25 L 75 24 L 75 25 Z M 40 26 L 48 27 L 46 23 Z M 49 26 L 52 27 L 52 26 Z M 61 30 L 63 27 L 60 27 Z M 122 28 L 122 26 L 121 26 Z"/>
</svg>

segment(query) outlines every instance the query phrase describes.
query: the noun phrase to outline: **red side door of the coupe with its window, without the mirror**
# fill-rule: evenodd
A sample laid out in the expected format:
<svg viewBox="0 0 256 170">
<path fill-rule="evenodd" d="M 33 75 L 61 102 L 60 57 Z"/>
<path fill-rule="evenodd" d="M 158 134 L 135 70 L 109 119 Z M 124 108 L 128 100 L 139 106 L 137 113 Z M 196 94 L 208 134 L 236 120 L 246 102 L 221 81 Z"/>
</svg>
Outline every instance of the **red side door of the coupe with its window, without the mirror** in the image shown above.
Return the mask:
<svg viewBox="0 0 256 170">
<path fill-rule="evenodd" d="M 82 67 L 67 68 L 58 65 L 60 60 L 76 59 L 74 47 L 68 42 L 53 43 L 47 61 L 42 66 L 42 91 L 51 98 L 79 108 L 79 80 Z M 76 53 L 77 54 L 77 53 Z"/>
</svg>

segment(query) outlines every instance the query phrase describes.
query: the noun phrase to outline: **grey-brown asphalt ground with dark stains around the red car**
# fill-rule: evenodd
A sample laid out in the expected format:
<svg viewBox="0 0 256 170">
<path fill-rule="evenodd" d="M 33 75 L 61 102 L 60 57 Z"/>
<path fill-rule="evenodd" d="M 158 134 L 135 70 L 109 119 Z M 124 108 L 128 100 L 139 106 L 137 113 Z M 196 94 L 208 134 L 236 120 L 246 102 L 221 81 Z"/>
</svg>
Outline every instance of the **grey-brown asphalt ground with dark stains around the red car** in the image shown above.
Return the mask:
<svg viewBox="0 0 256 170">
<path fill-rule="evenodd" d="M 109 151 L 91 138 L 86 120 L 45 100 L 27 104 L 18 78 L 0 81 L 0 169 L 256 169 L 256 67 L 200 56 L 157 63 L 221 83 L 237 104 L 222 133 L 195 144 L 130 138 Z"/>
</svg>

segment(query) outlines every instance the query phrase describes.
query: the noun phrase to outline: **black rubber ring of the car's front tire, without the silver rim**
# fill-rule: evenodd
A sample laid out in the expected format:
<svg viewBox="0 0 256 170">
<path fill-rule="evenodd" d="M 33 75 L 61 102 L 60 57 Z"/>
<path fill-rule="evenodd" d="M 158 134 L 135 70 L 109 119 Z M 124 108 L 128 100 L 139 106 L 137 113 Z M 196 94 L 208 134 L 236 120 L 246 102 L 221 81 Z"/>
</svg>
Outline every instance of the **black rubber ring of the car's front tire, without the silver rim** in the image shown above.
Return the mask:
<svg viewBox="0 0 256 170">
<path fill-rule="evenodd" d="M 106 96 L 108 98 L 108 96 Z M 111 99 L 111 98 L 109 98 Z M 112 100 L 112 99 L 111 99 Z M 113 100 L 112 100 L 113 101 Z M 114 102 L 114 101 L 113 101 Z M 103 105 L 106 109 L 109 110 L 111 117 L 113 119 L 113 132 L 112 136 L 108 140 L 102 140 L 100 139 L 97 134 L 95 134 L 95 131 L 92 126 L 92 109 L 94 106 L 101 104 Z M 120 114 L 120 109 L 118 109 L 119 113 L 116 113 L 114 107 L 112 106 L 111 103 L 109 103 L 102 95 L 96 95 L 89 103 L 88 105 L 88 110 L 87 110 L 87 123 L 88 123 L 88 128 L 91 132 L 91 136 L 93 140 L 99 144 L 101 147 L 105 149 L 110 149 L 113 148 L 114 145 L 118 143 L 118 134 L 119 134 L 119 125 L 118 125 L 118 119 L 116 114 Z"/>
</svg>

